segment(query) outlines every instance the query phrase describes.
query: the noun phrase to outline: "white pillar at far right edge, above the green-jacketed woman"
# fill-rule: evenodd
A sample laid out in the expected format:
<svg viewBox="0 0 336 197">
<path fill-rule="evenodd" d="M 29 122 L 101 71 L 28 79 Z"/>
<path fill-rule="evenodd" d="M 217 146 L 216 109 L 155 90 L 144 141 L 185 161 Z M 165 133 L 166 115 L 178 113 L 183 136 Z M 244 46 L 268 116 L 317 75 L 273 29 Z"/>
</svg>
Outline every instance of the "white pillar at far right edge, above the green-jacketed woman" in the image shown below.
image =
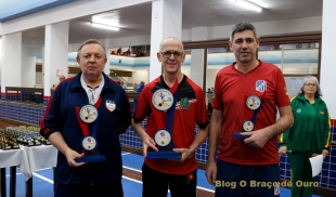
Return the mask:
<svg viewBox="0 0 336 197">
<path fill-rule="evenodd" d="M 322 54 L 321 54 L 321 73 L 320 82 L 323 93 L 323 100 L 328 107 L 331 119 L 336 119 L 336 65 L 334 58 L 334 42 L 336 31 L 336 6 L 335 0 L 323 1 L 322 12 Z"/>
</svg>

